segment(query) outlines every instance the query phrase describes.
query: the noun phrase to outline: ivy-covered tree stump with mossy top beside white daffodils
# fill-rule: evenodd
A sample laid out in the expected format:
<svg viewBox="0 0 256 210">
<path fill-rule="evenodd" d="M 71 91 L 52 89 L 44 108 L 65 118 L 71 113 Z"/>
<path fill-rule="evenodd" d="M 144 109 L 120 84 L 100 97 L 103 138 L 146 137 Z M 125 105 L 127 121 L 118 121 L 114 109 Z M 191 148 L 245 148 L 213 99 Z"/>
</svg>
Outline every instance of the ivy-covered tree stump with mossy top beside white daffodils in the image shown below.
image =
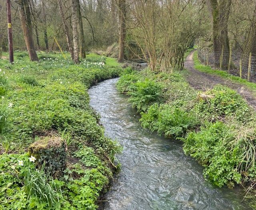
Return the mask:
<svg viewBox="0 0 256 210">
<path fill-rule="evenodd" d="M 54 178 L 63 176 L 66 169 L 67 145 L 61 137 L 41 137 L 29 146 L 30 155 L 37 158 L 38 164 L 45 164 L 45 169 Z"/>
</svg>

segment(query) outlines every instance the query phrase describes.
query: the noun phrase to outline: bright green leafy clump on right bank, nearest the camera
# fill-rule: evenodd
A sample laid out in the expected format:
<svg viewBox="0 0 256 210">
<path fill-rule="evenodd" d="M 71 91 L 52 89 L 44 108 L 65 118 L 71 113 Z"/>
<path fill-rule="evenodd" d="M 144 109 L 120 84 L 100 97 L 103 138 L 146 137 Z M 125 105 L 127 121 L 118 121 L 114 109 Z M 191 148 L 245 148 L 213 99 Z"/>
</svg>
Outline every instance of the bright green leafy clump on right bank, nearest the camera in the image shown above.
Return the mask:
<svg viewBox="0 0 256 210">
<path fill-rule="evenodd" d="M 239 183 L 239 145 L 234 144 L 234 132 L 223 122 L 206 123 L 200 132 L 191 132 L 183 139 L 186 154 L 199 160 L 205 167 L 204 175 L 217 186 Z M 229 144 L 233 142 L 233 144 Z"/>
</svg>

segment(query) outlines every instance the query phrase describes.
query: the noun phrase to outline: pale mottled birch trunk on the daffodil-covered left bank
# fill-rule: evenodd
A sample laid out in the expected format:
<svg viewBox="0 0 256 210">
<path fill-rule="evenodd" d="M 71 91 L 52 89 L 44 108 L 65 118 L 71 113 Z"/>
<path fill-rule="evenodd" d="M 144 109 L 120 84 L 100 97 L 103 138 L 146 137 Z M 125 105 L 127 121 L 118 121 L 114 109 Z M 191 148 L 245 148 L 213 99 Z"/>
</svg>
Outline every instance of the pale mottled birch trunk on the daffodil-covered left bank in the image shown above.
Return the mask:
<svg viewBox="0 0 256 210">
<path fill-rule="evenodd" d="M 73 26 L 73 43 L 74 43 L 74 64 L 78 64 L 79 52 L 78 52 L 78 38 L 77 38 L 77 4 L 76 0 L 72 0 L 72 26 Z"/>
</svg>

